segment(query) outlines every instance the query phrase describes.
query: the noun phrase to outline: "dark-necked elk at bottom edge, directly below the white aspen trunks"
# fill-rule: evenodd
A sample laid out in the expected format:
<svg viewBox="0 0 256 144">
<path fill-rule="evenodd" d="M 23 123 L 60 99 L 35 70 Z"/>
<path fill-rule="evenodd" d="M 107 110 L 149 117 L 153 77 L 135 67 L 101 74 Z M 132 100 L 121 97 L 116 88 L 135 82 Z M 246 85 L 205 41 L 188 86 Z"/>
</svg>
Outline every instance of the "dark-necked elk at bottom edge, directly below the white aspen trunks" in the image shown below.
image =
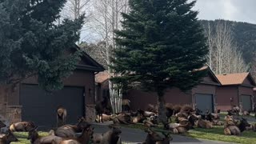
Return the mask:
<svg viewBox="0 0 256 144">
<path fill-rule="evenodd" d="M 101 144 L 122 144 L 120 134 L 122 131 L 120 130 L 120 126 L 118 125 L 110 125 L 106 133 L 102 136 Z"/>
</svg>

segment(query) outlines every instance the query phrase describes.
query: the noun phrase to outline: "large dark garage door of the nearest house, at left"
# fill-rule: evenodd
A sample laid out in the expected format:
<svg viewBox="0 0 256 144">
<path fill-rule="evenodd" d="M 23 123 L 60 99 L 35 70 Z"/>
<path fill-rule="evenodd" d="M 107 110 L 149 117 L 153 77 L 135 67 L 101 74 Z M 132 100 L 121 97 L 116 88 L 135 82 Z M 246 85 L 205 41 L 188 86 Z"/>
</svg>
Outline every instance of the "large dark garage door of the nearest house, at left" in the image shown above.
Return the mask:
<svg viewBox="0 0 256 144">
<path fill-rule="evenodd" d="M 56 109 L 64 106 L 67 110 L 66 121 L 70 124 L 84 115 L 83 87 L 65 86 L 52 94 L 41 90 L 37 85 L 22 84 L 20 104 L 22 121 L 33 121 L 39 128 L 50 129 L 56 126 Z"/>
</svg>

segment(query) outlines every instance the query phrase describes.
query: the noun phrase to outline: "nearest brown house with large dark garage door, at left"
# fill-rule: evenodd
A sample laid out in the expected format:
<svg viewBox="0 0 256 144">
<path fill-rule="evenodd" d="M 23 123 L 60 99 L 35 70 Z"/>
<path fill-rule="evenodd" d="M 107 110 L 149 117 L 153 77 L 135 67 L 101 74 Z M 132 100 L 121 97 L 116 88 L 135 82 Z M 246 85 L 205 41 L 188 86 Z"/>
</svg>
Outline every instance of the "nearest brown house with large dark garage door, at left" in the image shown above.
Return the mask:
<svg viewBox="0 0 256 144">
<path fill-rule="evenodd" d="M 104 68 L 86 53 L 64 88 L 46 93 L 38 86 L 37 76 L 26 78 L 12 89 L 0 86 L 0 114 L 10 122 L 33 121 L 39 127 L 56 126 L 57 106 L 67 110 L 67 122 L 74 124 L 79 116 L 95 119 L 94 74 Z"/>
</svg>

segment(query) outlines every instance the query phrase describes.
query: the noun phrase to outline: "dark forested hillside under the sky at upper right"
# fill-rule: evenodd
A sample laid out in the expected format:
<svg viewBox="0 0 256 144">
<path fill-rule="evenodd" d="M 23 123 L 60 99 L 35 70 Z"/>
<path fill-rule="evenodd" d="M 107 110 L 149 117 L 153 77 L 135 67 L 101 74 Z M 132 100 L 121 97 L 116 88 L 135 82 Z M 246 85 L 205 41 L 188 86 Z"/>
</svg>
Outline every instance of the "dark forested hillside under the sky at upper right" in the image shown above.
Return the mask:
<svg viewBox="0 0 256 144">
<path fill-rule="evenodd" d="M 226 20 L 202 20 L 200 22 L 204 26 L 207 26 L 208 22 L 210 22 L 210 26 L 214 26 L 214 22 L 216 23 L 217 21 Z M 256 25 L 246 22 L 226 22 L 234 33 L 234 42 L 237 43 L 238 48 L 242 51 L 243 58 L 247 63 L 250 63 L 253 58 L 253 52 L 256 51 Z"/>
</svg>

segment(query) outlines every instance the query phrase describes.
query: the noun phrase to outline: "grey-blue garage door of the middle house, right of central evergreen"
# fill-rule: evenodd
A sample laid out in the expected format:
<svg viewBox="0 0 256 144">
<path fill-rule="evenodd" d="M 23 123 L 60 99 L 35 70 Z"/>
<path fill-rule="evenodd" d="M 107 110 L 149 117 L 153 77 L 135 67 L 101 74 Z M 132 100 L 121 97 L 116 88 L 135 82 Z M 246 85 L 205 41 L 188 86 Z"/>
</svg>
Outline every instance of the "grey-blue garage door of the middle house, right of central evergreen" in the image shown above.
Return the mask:
<svg viewBox="0 0 256 144">
<path fill-rule="evenodd" d="M 214 102 L 213 95 L 211 94 L 196 94 L 195 95 L 196 105 L 199 110 L 202 112 L 206 112 L 206 110 L 210 110 L 210 112 L 214 112 Z"/>
</svg>

